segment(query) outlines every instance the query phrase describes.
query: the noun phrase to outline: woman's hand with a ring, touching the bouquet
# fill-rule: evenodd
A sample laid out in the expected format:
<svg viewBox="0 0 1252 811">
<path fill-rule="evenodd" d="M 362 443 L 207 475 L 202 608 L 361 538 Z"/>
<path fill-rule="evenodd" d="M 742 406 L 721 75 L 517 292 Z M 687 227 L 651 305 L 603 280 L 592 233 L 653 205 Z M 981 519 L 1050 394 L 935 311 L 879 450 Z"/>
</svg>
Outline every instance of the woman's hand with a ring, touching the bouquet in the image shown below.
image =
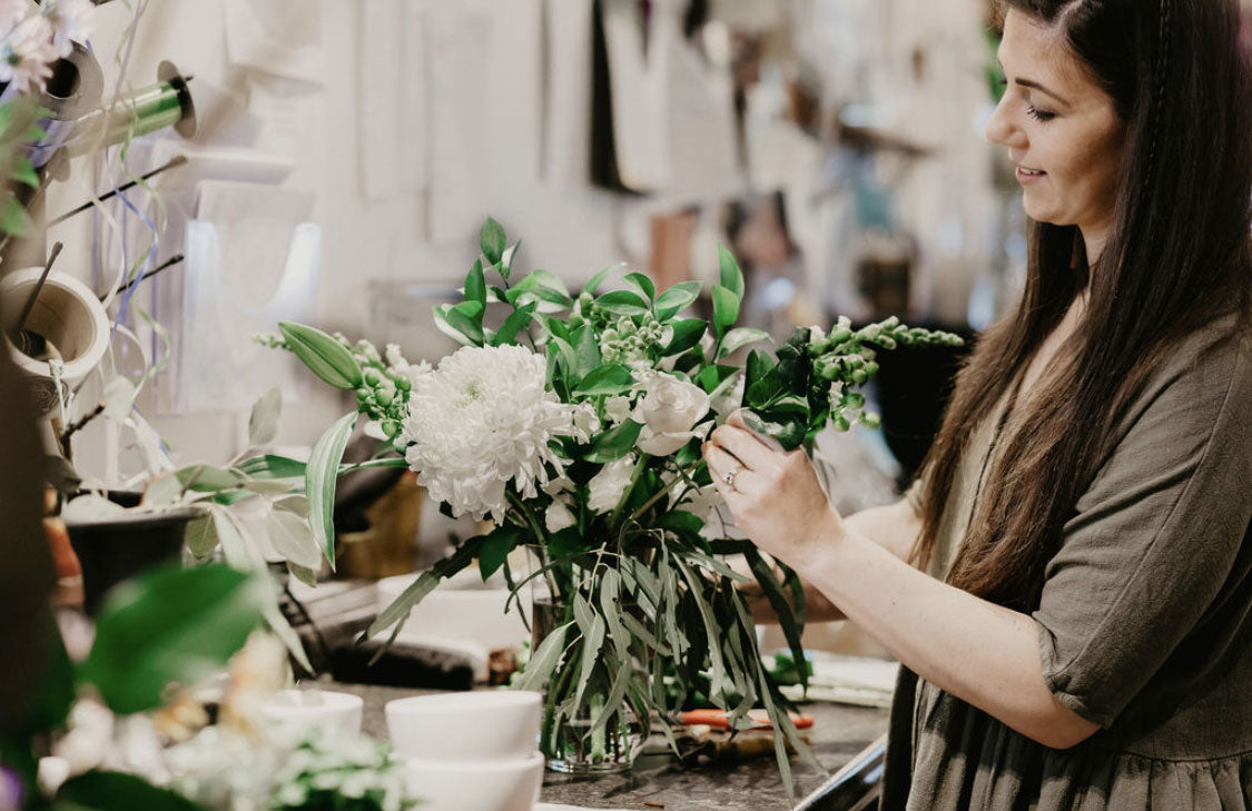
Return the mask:
<svg viewBox="0 0 1252 811">
<path fill-rule="evenodd" d="M 739 412 L 709 437 L 704 458 L 739 528 L 796 571 L 843 533 L 808 454 L 784 452 L 749 429 Z"/>
</svg>

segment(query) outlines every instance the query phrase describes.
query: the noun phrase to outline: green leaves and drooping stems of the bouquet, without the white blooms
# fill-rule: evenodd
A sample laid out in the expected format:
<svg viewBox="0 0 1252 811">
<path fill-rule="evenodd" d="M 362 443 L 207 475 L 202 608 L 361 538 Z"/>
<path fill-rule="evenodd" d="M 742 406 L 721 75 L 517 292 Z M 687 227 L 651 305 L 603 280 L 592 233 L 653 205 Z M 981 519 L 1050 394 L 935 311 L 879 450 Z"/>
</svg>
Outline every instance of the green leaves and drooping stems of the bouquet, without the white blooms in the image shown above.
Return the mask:
<svg viewBox="0 0 1252 811">
<path fill-rule="evenodd" d="M 747 711 L 764 707 L 779 731 L 779 766 L 790 786 L 786 743 L 813 757 L 761 661 L 740 586 L 756 582 L 798 662 L 804 661 L 804 592 L 794 572 L 750 542 L 709 537 L 715 533 L 700 503 L 712 488 L 701 441 L 715 419 L 740 407 L 747 409 L 750 427 L 788 449 L 811 449 L 828 426 L 874 427 L 878 418 L 864 411 L 858 390 L 878 370 L 874 347 L 960 339 L 909 329 L 894 318 L 856 330 L 840 319 L 830 334 L 799 329 L 775 354 L 752 349 L 739 364 L 731 362 L 732 353 L 769 335 L 735 327 L 744 275 L 726 249 L 719 257 L 720 280 L 707 299 L 712 318 L 705 320 L 685 315 L 700 299 L 699 283 L 657 290 L 649 277 L 626 273 L 620 289 L 601 292 L 613 272 L 608 268 L 575 297 L 552 273 L 516 273 L 518 245 L 508 245 L 495 220 L 488 219 L 480 242 L 482 257 L 466 277 L 464 300 L 437 307 L 436 324 L 466 347 L 522 345 L 540 353 L 547 364 L 547 389 L 563 403 L 593 412 L 595 428 L 586 439 L 553 441 L 563 471 L 553 471 L 552 478 L 561 487 L 531 497 L 511 487 L 505 521 L 418 577 L 368 635 L 391 630 L 394 636 L 439 581 L 475 561 L 483 578 L 503 571 L 515 597 L 530 581 L 542 578 L 553 594 L 555 616 L 518 686 L 546 687 L 543 748 L 551 757 L 568 755 L 571 746 L 592 761 L 607 757 L 631 718 L 645 726 L 657 720 L 672 742 L 676 713 L 696 702 L 726 710 L 735 728 L 750 727 Z M 502 320 L 488 319 L 488 309 Z M 492 323 L 500 327 L 493 329 Z M 413 375 L 394 348 L 383 358 L 368 343 L 351 344 L 309 327 L 283 324 L 280 335 L 264 340 L 295 353 L 331 385 L 357 392 L 357 411 L 318 443 L 305 469 L 314 532 L 333 561 L 333 526 L 324 504 L 342 469 L 343 439 L 364 416 L 403 454 L 413 442 L 406 429 Z M 650 424 L 642 400 L 657 374 L 666 384 L 699 387 L 700 397 L 712 403 L 711 412 L 692 409 L 691 426 Z M 669 432 L 660 443 L 657 431 Z M 672 451 L 657 451 L 672 437 L 679 437 Z M 611 466 L 618 466 L 612 472 L 620 473 L 621 488 L 613 491 L 615 503 L 606 506 L 602 492 L 596 493 L 603 481 L 597 477 Z M 531 571 L 515 572 L 508 556 L 522 546 L 538 562 Z M 751 577 L 727 566 L 727 556 L 742 556 Z M 806 682 L 803 668 L 798 678 Z M 576 720 L 585 726 L 571 741 L 565 730 Z"/>
</svg>

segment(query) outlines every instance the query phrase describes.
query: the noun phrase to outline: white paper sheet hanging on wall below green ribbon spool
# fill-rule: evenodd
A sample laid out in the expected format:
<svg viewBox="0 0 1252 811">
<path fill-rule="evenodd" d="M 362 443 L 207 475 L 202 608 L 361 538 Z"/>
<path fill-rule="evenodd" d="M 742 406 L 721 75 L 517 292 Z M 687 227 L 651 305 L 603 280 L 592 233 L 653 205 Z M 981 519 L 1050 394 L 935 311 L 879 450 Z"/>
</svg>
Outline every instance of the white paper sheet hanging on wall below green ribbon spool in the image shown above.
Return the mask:
<svg viewBox="0 0 1252 811">
<path fill-rule="evenodd" d="M 292 358 L 252 335 L 313 315 L 322 254 L 322 229 L 307 222 L 313 200 L 273 186 L 202 184 L 184 238 L 178 412 L 243 412 L 275 383 L 284 399 L 303 395 Z"/>
</svg>

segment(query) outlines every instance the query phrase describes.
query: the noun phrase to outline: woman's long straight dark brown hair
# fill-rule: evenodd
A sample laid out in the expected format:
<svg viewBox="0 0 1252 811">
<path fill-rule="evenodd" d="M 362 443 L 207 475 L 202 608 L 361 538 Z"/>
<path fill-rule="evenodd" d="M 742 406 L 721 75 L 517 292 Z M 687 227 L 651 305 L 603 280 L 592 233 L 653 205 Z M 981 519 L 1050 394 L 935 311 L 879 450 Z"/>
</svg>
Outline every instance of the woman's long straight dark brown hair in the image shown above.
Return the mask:
<svg viewBox="0 0 1252 811">
<path fill-rule="evenodd" d="M 949 582 L 1020 611 L 1038 604 L 1062 524 L 1109 448 L 1119 411 L 1153 364 L 1223 313 L 1252 310 L 1252 84 L 1237 0 L 1008 0 L 1063 31 L 1126 124 L 1126 160 L 1103 254 L 1075 227 L 1030 225 L 1017 310 L 957 378 L 921 468 L 931 558 L 964 442 L 1089 283 L 1085 317 L 1035 393 L 1019 402 L 982 487 Z M 1246 320 L 1244 320 L 1246 323 Z"/>
</svg>

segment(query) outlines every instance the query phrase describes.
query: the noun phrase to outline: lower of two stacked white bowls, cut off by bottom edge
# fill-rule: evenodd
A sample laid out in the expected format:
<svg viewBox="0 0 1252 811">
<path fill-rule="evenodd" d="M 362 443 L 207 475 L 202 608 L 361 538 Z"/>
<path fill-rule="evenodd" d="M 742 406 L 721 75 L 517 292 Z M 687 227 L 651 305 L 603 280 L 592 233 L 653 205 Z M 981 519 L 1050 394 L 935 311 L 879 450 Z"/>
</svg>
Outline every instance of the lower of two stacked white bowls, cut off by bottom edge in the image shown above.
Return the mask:
<svg viewBox="0 0 1252 811">
<path fill-rule="evenodd" d="M 404 761 L 408 793 L 422 811 L 531 811 L 543 786 L 540 753 L 503 761 Z"/>
</svg>

